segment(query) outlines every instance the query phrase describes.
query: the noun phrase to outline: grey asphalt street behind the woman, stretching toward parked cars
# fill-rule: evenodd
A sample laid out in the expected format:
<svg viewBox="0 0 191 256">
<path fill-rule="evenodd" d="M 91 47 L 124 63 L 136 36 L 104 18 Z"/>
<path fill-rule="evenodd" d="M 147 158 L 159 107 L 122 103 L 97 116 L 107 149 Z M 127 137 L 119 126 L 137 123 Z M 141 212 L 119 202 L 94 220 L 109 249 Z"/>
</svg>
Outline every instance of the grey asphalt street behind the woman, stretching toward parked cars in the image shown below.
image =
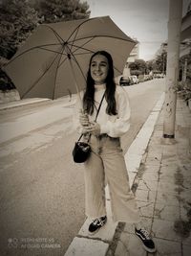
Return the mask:
<svg viewBox="0 0 191 256">
<path fill-rule="evenodd" d="M 164 86 L 159 79 L 124 87 L 132 108 L 132 126 L 121 138 L 124 152 Z M 64 255 L 86 219 L 83 165 L 71 157 L 73 108 L 56 100 L 0 112 L 1 255 Z"/>
</svg>

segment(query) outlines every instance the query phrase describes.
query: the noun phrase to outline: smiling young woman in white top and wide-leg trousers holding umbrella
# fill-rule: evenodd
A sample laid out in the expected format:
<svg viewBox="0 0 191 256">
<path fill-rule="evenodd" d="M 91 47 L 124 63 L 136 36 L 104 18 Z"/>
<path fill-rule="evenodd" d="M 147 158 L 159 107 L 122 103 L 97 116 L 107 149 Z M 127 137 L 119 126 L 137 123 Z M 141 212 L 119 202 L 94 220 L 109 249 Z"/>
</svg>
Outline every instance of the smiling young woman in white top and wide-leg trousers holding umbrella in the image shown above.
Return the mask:
<svg viewBox="0 0 191 256">
<path fill-rule="evenodd" d="M 135 233 L 144 248 L 154 252 L 154 242 L 140 226 L 137 203 L 130 189 L 120 147 L 119 138 L 130 127 L 130 105 L 125 90 L 114 81 L 113 59 L 109 53 L 99 51 L 90 59 L 87 86 L 82 99 L 83 111 L 79 103 L 76 104 L 76 127 L 81 133 L 91 134 L 92 152 L 84 163 L 86 215 L 94 220 L 90 223 L 89 233 L 94 234 L 107 221 L 104 190 L 106 179 L 113 220 L 135 223 Z"/>
</svg>

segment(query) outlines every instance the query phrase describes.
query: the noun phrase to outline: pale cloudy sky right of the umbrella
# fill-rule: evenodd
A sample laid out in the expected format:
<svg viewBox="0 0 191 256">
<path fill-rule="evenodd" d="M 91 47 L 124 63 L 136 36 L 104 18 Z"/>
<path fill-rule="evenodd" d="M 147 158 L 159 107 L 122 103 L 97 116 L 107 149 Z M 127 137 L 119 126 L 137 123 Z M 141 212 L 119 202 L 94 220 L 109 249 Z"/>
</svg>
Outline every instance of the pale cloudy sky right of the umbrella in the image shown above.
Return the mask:
<svg viewBox="0 0 191 256">
<path fill-rule="evenodd" d="M 86 0 L 90 17 L 109 15 L 117 26 L 139 42 L 139 58 L 154 58 L 167 40 L 169 0 Z M 191 0 L 183 0 L 182 15 Z"/>
</svg>

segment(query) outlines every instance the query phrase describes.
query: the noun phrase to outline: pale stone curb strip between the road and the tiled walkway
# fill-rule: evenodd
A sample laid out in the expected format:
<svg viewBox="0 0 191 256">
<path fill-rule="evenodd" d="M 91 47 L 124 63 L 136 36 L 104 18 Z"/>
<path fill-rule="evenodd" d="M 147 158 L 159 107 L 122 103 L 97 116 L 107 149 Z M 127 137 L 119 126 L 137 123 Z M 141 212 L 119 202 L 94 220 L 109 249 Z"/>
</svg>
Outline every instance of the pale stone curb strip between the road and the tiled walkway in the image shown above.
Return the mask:
<svg viewBox="0 0 191 256">
<path fill-rule="evenodd" d="M 136 139 L 124 155 L 125 163 L 128 166 L 128 175 L 131 187 L 134 184 L 139 165 L 157 123 L 159 112 L 164 103 L 164 96 L 165 93 L 163 92 L 146 122 L 142 128 L 140 128 Z M 107 254 L 118 226 L 117 222 L 112 221 L 108 186 L 106 186 L 106 209 L 108 216 L 107 224 L 101 228 L 96 235 L 90 236 L 87 230 L 91 220 L 87 219 L 76 237 L 74 237 L 72 243 L 69 245 L 66 253 L 64 254 L 65 256 L 105 256 Z"/>
</svg>

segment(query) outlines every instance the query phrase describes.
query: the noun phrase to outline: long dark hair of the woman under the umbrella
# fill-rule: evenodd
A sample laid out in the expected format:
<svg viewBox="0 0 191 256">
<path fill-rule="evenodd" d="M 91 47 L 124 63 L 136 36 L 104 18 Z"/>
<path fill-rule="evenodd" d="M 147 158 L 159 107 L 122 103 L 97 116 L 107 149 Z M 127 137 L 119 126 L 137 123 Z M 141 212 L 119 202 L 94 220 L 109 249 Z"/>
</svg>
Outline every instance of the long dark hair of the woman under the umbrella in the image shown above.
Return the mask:
<svg viewBox="0 0 191 256">
<path fill-rule="evenodd" d="M 91 67 L 92 59 L 96 55 L 102 55 L 108 59 L 109 69 L 108 69 L 107 78 L 105 80 L 105 83 L 106 83 L 105 99 L 107 102 L 106 113 L 109 115 L 117 115 L 117 103 L 115 99 L 116 83 L 114 81 L 113 58 L 109 53 L 105 51 L 98 51 L 90 58 L 89 70 L 88 70 L 87 82 L 86 82 L 86 90 L 83 97 L 83 108 L 90 115 L 94 113 L 95 81 L 92 79 L 90 67 Z"/>
</svg>

